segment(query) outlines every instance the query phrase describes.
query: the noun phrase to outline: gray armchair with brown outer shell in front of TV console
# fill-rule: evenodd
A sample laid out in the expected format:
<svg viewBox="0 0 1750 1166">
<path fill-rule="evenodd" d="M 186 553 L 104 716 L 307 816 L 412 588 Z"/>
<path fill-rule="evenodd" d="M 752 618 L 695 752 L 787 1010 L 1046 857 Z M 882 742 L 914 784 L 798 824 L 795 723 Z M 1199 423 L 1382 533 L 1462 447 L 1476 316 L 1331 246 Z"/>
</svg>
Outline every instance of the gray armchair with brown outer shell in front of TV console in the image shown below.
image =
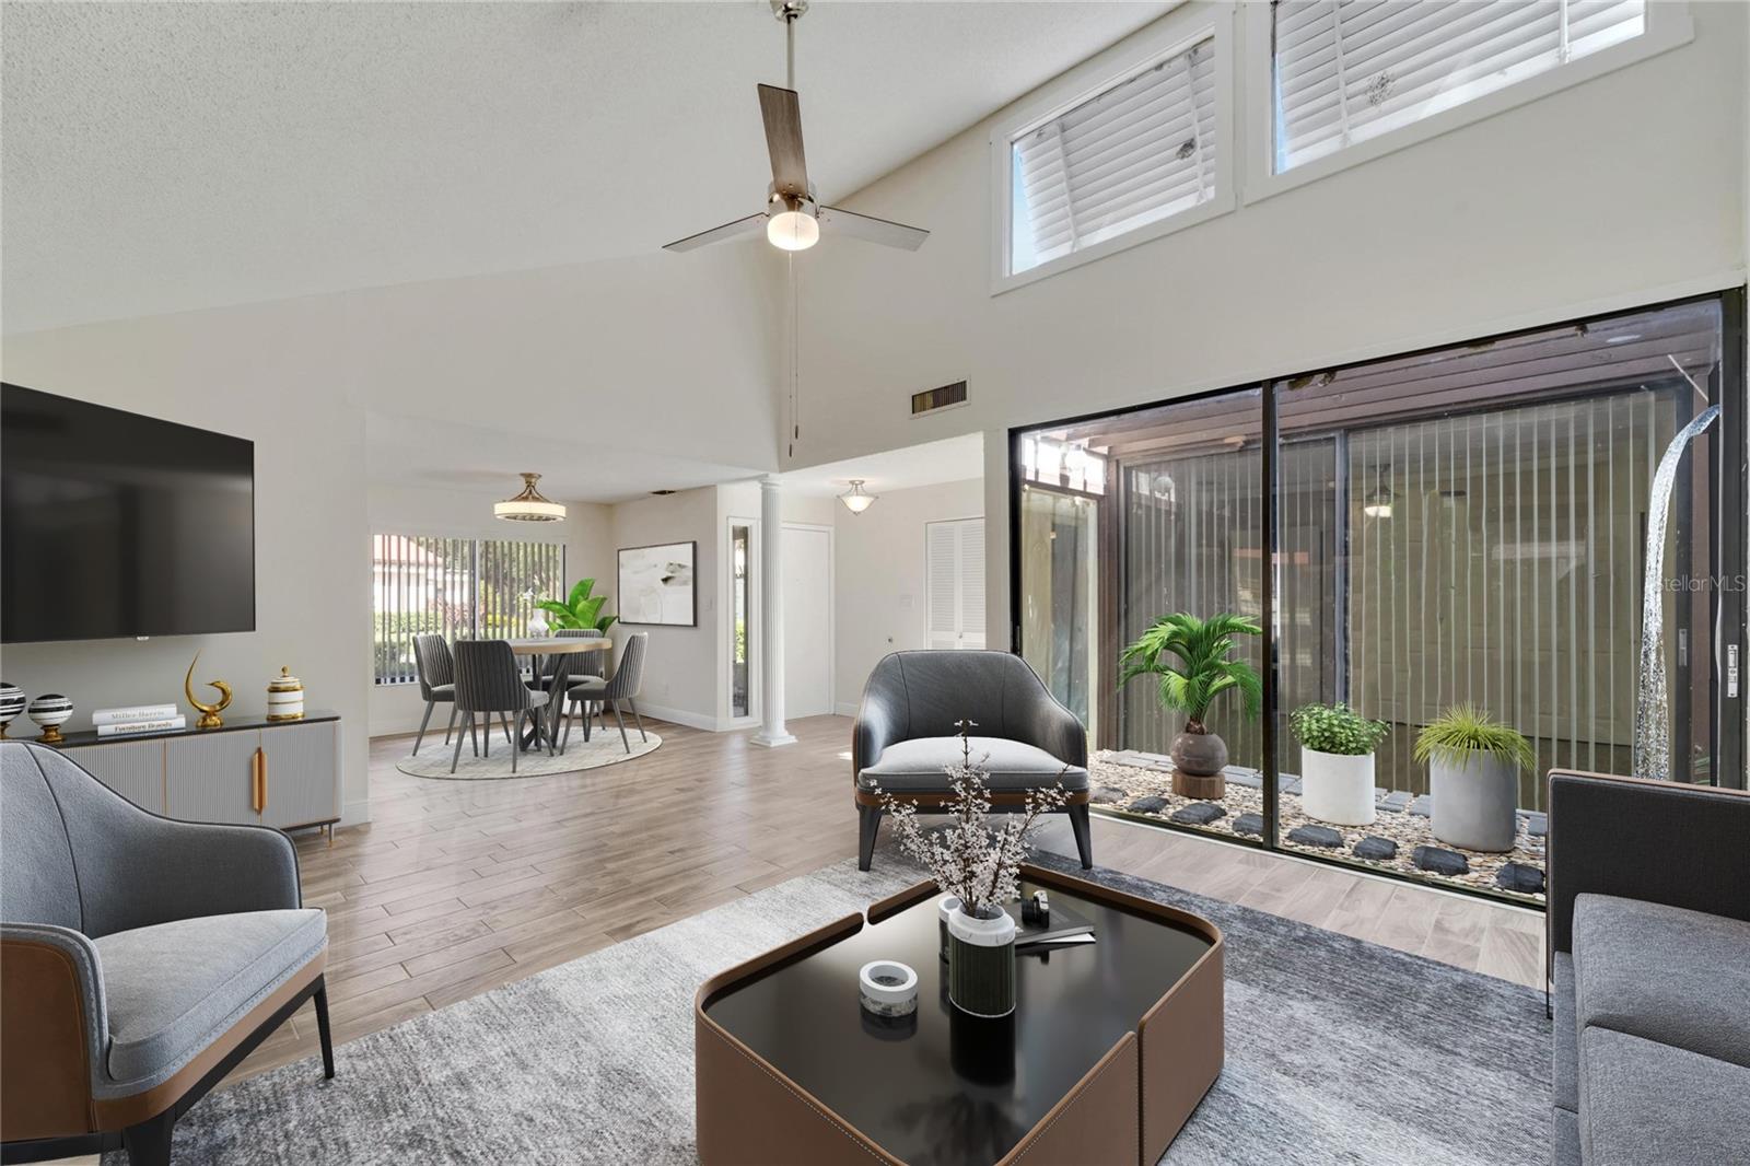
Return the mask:
<svg viewBox="0 0 1750 1166">
<path fill-rule="evenodd" d="M 68 756 L 0 742 L 0 1140 L 7 1161 L 172 1129 L 306 1000 L 329 1042 L 327 921 L 270 826 L 172 821 Z"/>
</svg>

